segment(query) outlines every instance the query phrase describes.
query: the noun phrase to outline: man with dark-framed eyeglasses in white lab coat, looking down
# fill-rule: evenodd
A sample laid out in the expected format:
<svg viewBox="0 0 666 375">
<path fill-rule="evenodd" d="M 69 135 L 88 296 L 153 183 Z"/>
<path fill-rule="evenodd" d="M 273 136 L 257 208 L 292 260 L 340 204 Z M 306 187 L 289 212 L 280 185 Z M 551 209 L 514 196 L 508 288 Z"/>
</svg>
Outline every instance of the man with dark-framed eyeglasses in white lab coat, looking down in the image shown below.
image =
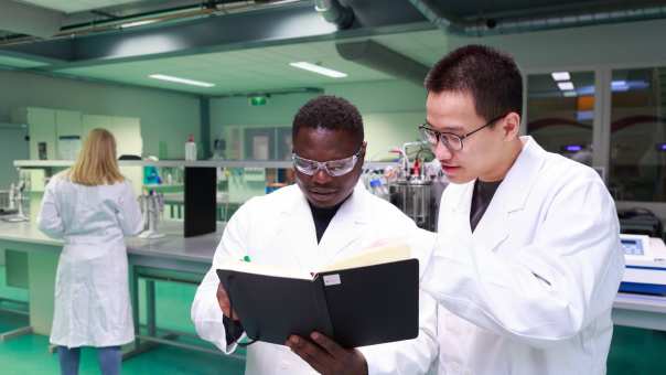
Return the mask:
<svg viewBox="0 0 666 375">
<path fill-rule="evenodd" d="M 519 137 L 508 55 L 470 45 L 426 78 L 421 126 L 451 182 L 422 288 L 442 374 L 605 374 L 624 269 L 613 200 L 589 167 Z"/>
</svg>

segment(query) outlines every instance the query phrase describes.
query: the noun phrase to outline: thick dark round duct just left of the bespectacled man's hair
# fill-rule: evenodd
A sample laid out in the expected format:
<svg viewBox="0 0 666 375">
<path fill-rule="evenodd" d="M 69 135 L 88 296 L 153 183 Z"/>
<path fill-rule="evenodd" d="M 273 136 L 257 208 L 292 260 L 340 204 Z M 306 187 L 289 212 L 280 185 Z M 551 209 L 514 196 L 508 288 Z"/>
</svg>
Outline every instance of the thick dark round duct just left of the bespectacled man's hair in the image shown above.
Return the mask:
<svg viewBox="0 0 666 375">
<path fill-rule="evenodd" d="M 429 71 L 428 66 L 370 40 L 336 43 L 335 49 L 345 60 L 419 86 L 423 85 L 423 79 Z"/>
</svg>

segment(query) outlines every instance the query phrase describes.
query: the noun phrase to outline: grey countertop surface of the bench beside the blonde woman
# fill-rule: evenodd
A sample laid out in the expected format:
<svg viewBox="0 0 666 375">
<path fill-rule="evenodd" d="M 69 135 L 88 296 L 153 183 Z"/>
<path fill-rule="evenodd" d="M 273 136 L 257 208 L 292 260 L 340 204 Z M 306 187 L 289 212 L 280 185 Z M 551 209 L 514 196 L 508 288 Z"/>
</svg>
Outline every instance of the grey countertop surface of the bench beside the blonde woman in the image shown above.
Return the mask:
<svg viewBox="0 0 666 375">
<path fill-rule="evenodd" d="M 218 223 L 215 233 L 185 238 L 182 222 L 164 221 L 159 227 L 159 232 L 165 234 L 164 237 L 154 239 L 127 237 L 125 242 L 130 255 L 211 264 L 223 231 L 224 224 Z M 0 222 L 0 240 L 63 246 L 62 240 L 47 237 L 34 223 L 29 222 Z"/>
</svg>

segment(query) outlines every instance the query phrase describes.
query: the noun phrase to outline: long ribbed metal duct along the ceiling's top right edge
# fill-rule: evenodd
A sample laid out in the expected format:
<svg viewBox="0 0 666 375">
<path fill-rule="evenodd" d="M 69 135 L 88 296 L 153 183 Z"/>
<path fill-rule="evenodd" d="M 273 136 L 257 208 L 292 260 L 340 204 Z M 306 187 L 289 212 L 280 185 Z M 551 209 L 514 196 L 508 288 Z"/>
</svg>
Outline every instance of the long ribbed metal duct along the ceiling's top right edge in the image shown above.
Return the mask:
<svg viewBox="0 0 666 375">
<path fill-rule="evenodd" d="M 535 8 L 515 14 L 485 14 L 460 19 L 445 14 L 433 0 L 409 0 L 432 24 L 447 33 L 463 36 L 525 33 L 606 23 L 646 21 L 666 18 L 659 1 L 605 1 L 589 6 Z"/>
</svg>

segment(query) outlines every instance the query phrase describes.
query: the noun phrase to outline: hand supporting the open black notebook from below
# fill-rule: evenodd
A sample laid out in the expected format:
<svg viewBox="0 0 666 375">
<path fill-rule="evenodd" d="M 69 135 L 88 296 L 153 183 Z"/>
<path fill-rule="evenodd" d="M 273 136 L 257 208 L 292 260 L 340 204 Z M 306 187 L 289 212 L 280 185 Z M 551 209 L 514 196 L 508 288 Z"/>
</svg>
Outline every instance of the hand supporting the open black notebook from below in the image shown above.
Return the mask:
<svg viewBox="0 0 666 375">
<path fill-rule="evenodd" d="M 344 349 L 319 332 L 312 332 L 310 339 L 291 335 L 284 344 L 320 374 L 367 375 L 367 363 L 358 350 Z"/>
</svg>

